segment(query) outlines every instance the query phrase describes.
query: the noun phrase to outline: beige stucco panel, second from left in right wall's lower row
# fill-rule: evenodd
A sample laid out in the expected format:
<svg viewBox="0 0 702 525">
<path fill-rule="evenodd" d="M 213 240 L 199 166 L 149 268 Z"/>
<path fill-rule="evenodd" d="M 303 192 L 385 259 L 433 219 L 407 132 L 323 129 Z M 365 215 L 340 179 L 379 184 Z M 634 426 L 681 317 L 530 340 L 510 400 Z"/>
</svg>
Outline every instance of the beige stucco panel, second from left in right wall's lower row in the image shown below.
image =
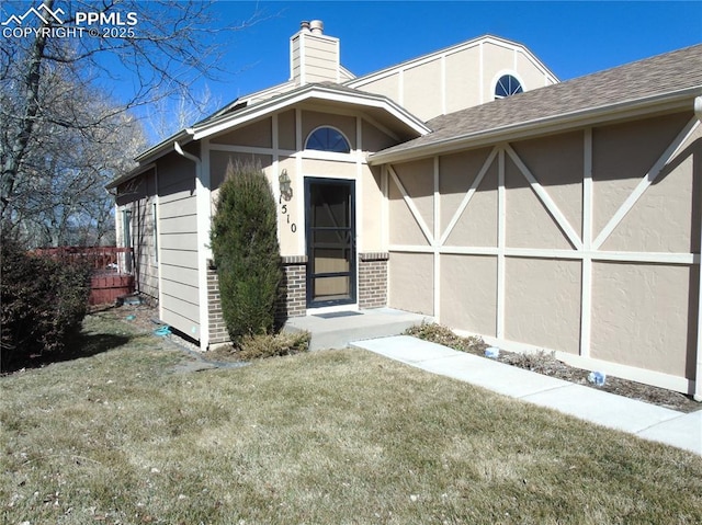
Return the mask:
<svg viewBox="0 0 702 525">
<path fill-rule="evenodd" d="M 496 335 L 497 258 L 441 255 L 441 322 Z"/>
</svg>

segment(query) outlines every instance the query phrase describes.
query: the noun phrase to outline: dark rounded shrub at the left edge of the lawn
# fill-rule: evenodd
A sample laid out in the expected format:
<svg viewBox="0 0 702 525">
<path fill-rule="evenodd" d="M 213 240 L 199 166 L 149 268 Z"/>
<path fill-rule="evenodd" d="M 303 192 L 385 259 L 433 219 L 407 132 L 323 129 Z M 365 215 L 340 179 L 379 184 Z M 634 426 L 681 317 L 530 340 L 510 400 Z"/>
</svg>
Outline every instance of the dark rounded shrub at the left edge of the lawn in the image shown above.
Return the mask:
<svg viewBox="0 0 702 525">
<path fill-rule="evenodd" d="M 82 327 L 90 267 L 30 255 L 21 243 L 7 238 L 0 266 L 0 369 L 56 358 Z"/>
</svg>

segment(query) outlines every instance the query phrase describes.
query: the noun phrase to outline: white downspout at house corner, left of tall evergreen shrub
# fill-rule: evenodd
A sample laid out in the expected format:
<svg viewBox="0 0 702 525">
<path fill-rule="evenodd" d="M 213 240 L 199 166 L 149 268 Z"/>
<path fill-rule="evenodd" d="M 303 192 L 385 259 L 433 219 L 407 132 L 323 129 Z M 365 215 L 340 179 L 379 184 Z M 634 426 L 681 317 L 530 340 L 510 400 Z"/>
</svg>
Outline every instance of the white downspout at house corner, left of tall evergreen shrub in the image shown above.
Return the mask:
<svg viewBox="0 0 702 525">
<path fill-rule="evenodd" d="M 210 187 L 203 182 L 202 159 L 184 151 L 173 140 L 176 152 L 195 163 L 195 209 L 197 212 L 197 292 L 200 307 L 200 349 L 210 346 L 210 312 L 207 303 L 207 246 L 210 244 Z M 208 175 L 208 173 L 207 173 Z M 210 179 L 210 176 L 207 176 Z M 192 335 L 192 334 L 190 334 Z"/>
</svg>

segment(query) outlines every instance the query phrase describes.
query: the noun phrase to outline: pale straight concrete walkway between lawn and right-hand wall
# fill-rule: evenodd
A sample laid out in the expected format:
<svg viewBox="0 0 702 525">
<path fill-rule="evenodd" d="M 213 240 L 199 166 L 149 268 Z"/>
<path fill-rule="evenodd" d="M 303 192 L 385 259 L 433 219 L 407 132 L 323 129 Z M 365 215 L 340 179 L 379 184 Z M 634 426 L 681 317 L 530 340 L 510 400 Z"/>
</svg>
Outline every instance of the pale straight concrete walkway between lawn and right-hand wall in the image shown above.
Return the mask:
<svg viewBox="0 0 702 525">
<path fill-rule="evenodd" d="M 351 346 L 702 456 L 702 410 L 677 412 L 409 335 L 355 341 Z"/>
</svg>

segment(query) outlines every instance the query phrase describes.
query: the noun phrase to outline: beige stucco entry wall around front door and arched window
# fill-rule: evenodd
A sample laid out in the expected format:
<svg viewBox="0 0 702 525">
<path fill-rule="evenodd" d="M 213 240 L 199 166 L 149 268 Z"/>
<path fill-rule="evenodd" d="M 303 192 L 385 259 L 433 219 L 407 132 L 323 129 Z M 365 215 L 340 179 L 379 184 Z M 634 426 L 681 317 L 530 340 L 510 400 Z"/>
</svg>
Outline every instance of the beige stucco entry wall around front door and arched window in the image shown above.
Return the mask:
<svg viewBox="0 0 702 525">
<path fill-rule="evenodd" d="M 299 137 L 297 136 L 298 115 L 301 118 Z M 360 251 L 382 250 L 382 232 L 381 228 L 377 228 L 383 208 L 380 169 L 373 171 L 364 159 L 355 156 L 354 151 L 348 156 L 316 150 L 303 150 L 295 156 L 292 155 L 296 145 L 299 142 L 304 147 L 309 134 L 320 126 L 332 126 L 341 130 L 349 139 L 352 150 L 360 146 L 364 150 L 377 151 L 397 144 L 397 139 L 364 119 L 363 116 L 309 111 L 303 107 L 276 114 L 279 134 L 278 148 L 274 148 L 273 142 L 269 142 L 269 129 L 274 127 L 272 118 L 260 121 L 252 126 L 244 126 L 236 132 L 229 132 L 210 144 L 212 213 L 216 212 L 218 189 L 224 181 L 230 160 L 233 162 L 258 162 L 265 171 L 276 197 L 280 191 L 279 175 L 285 171 L 291 180 L 293 197 L 290 201 L 280 199 L 278 202 L 281 253 L 284 256 L 304 255 L 304 179 L 316 176 L 356 180 L 359 182 L 356 184 L 356 219 L 359 220 L 360 242 L 358 249 Z M 361 144 L 356 145 L 359 124 Z M 236 144 L 237 137 L 248 137 L 248 139 L 246 144 Z M 239 148 L 241 148 L 240 151 Z M 259 149 L 252 152 L 250 148 Z M 186 221 L 173 225 L 173 228 L 186 227 Z"/>
</svg>

